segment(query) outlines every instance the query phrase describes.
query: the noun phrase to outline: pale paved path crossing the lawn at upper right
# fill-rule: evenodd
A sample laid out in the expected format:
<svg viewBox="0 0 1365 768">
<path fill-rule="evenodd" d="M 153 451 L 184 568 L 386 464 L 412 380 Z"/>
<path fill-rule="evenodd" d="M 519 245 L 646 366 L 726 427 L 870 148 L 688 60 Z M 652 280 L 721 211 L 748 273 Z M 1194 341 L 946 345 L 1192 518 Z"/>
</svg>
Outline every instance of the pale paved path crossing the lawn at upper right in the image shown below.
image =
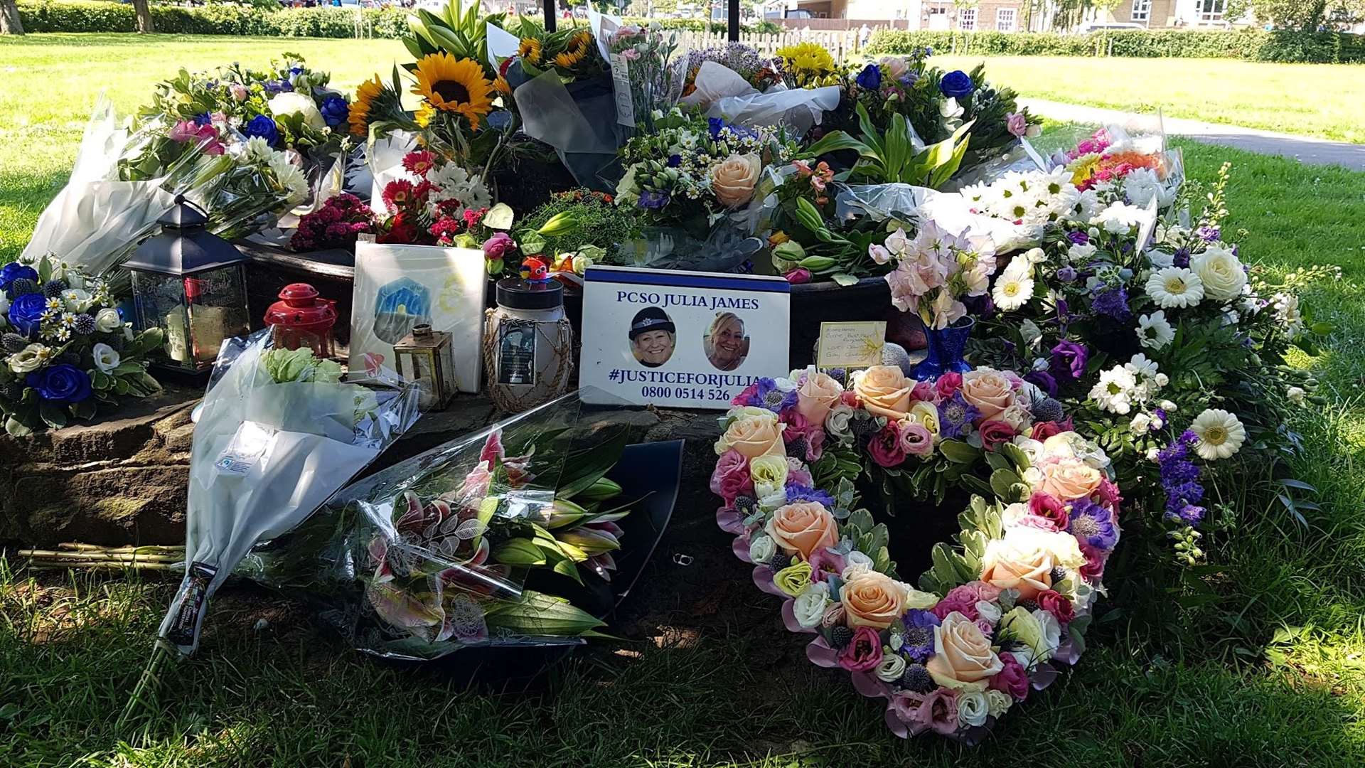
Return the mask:
<svg viewBox="0 0 1365 768">
<path fill-rule="evenodd" d="M 1122 123 L 1130 115 L 1118 109 L 1061 104 L 1040 98 L 1020 98 L 1018 101 L 1020 105 L 1028 107 L 1032 112 L 1054 120 L 1073 123 Z M 1166 133 L 1194 141 L 1223 143 L 1248 152 L 1260 152 L 1261 154 L 1280 154 L 1305 164 L 1343 165 L 1354 171 L 1365 171 L 1365 143 L 1297 137 L 1293 134 L 1278 134 L 1260 128 L 1223 126 L 1182 118 L 1163 118 L 1163 123 L 1166 124 Z"/>
</svg>

